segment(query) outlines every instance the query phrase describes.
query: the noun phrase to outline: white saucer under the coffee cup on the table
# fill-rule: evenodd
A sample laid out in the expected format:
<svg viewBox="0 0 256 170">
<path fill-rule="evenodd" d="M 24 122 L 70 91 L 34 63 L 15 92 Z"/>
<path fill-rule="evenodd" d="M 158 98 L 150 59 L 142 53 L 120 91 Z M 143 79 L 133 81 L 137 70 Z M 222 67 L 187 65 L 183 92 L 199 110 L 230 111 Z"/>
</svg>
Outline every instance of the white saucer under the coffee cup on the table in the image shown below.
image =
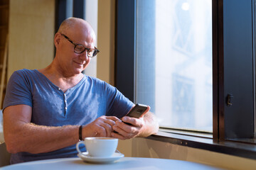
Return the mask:
<svg viewBox="0 0 256 170">
<path fill-rule="evenodd" d="M 124 157 L 124 154 L 115 152 L 112 157 L 91 157 L 88 152 L 82 152 L 82 154 L 78 154 L 85 162 L 98 163 L 98 164 L 106 164 L 110 162 L 114 162 L 117 159 Z"/>
</svg>

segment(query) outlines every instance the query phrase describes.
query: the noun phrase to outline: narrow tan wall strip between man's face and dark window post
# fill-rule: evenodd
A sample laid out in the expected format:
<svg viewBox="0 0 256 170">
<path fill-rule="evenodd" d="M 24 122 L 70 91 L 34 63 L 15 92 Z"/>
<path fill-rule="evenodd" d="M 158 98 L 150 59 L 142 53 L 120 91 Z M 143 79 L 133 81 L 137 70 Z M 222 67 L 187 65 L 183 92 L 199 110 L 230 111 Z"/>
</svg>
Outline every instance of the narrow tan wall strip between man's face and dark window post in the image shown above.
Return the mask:
<svg viewBox="0 0 256 170">
<path fill-rule="evenodd" d="M 98 1 L 97 78 L 114 86 L 114 14 L 115 1 Z"/>
</svg>

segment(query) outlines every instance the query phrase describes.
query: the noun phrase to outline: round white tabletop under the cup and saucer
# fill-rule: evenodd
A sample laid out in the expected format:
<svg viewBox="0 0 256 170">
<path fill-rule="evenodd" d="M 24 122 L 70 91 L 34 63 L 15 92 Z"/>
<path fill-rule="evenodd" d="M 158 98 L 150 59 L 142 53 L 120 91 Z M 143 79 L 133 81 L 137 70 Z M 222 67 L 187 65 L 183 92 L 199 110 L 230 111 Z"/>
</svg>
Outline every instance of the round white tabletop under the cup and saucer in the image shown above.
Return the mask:
<svg viewBox="0 0 256 170">
<path fill-rule="evenodd" d="M 139 158 L 139 157 L 122 157 L 112 164 L 89 164 L 83 162 L 80 158 L 64 158 L 64 159 L 48 159 L 35 162 L 26 162 L 21 164 L 13 164 L 0 168 L 1 170 L 85 170 L 85 169 L 125 169 L 125 170 L 156 170 L 156 169 L 196 169 L 210 170 L 218 169 L 213 166 L 197 164 L 193 162 L 179 161 L 174 159 L 154 159 L 154 158 Z"/>
</svg>

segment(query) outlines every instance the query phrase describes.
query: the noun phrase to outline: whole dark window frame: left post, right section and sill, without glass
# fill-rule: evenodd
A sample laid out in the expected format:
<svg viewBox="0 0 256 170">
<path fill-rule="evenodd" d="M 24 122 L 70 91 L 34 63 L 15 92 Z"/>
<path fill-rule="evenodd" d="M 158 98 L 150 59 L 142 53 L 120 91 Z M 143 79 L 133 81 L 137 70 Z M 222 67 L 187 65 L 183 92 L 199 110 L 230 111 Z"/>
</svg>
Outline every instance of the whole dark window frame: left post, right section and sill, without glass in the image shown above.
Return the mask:
<svg viewBox="0 0 256 170">
<path fill-rule="evenodd" d="M 182 135 L 182 132 L 177 135 L 160 129 L 157 135 L 151 135 L 149 139 L 256 159 L 255 144 L 242 140 L 255 137 L 252 4 L 254 0 L 212 1 L 213 138 Z M 115 86 L 124 96 L 135 101 L 136 0 L 117 0 L 115 43 Z M 247 66 L 248 63 L 252 64 Z M 239 89 L 241 87 L 242 90 Z M 232 106 L 227 104 L 228 94 L 233 95 Z"/>
</svg>

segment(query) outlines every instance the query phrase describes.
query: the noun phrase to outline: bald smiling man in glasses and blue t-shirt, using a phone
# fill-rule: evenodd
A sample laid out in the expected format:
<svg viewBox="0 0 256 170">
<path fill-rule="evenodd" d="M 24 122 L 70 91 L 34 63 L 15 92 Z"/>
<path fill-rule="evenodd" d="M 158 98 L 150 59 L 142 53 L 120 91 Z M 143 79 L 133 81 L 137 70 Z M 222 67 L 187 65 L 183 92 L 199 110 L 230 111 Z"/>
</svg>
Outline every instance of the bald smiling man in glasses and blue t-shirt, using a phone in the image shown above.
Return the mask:
<svg viewBox="0 0 256 170">
<path fill-rule="evenodd" d="M 53 62 L 12 74 L 3 113 L 11 164 L 76 157 L 75 144 L 85 137 L 125 140 L 157 132 L 152 113 L 139 119 L 124 116 L 134 103 L 110 84 L 82 74 L 98 52 L 95 41 L 89 23 L 68 18 L 55 34 Z"/>
</svg>

